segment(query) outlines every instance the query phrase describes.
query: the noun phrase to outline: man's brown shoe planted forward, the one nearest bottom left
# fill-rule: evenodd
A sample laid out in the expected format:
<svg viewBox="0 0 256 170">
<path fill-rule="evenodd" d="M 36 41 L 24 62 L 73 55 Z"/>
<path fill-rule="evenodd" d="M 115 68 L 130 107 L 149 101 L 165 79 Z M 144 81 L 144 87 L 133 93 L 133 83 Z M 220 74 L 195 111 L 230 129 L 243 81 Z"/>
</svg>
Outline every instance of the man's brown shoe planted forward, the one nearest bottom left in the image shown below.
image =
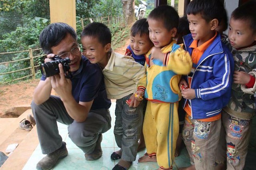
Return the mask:
<svg viewBox="0 0 256 170">
<path fill-rule="evenodd" d="M 36 165 L 38 170 L 50 170 L 54 167 L 58 159 L 65 158 L 68 155 L 66 143 L 62 142 L 62 147 L 54 152 L 47 154 Z"/>
</svg>

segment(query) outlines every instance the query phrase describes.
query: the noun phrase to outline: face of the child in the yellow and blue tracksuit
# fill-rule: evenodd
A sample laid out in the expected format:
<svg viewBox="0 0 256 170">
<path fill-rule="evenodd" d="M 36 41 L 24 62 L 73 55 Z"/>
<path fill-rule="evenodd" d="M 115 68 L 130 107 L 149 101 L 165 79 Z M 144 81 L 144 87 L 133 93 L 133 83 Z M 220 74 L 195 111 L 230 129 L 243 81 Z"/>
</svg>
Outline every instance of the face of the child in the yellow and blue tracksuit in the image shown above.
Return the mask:
<svg viewBox="0 0 256 170">
<path fill-rule="evenodd" d="M 149 38 L 157 48 L 162 48 L 172 42 L 176 35 L 176 28 L 168 31 L 163 21 L 148 19 Z"/>
</svg>

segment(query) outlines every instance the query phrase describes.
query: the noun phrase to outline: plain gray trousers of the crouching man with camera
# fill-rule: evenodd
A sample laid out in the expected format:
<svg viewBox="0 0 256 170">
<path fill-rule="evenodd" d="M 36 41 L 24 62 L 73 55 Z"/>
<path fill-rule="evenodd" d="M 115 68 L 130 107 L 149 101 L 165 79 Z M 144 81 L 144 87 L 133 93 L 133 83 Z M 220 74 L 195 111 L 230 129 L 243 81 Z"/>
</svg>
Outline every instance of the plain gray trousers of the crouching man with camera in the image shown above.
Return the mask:
<svg viewBox="0 0 256 170">
<path fill-rule="evenodd" d="M 68 125 L 70 139 L 84 153 L 92 152 L 98 140 L 98 134 L 108 131 L 111 127 L 108 109 L 90 110 L 86 120 L 79 123 L 68 115 L 63 102 L 57 96 L 50 96 L 41 105 L 36 105 L 32 101 L 31 108 L 43 154 L 52 153 L 62 146 L 57 121 Z"/>
</svg>

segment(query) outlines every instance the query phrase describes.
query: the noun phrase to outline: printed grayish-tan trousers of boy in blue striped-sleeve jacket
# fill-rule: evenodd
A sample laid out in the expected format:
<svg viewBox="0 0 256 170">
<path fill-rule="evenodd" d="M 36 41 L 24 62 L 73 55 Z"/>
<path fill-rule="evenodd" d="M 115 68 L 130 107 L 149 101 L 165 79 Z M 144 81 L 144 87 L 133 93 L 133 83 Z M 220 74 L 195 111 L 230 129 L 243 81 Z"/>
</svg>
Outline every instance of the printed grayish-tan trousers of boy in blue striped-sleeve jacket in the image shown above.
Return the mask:
<svg viewBox="0 0 256 170">
<path fill-rule="evenodd" d="M 212 122 L 203 122 L 185 118 L 182 136 L 190 163 L 197 170 L 215 170 L 215 154 L 220 137 L 221 119 Z"/>
</svg>

